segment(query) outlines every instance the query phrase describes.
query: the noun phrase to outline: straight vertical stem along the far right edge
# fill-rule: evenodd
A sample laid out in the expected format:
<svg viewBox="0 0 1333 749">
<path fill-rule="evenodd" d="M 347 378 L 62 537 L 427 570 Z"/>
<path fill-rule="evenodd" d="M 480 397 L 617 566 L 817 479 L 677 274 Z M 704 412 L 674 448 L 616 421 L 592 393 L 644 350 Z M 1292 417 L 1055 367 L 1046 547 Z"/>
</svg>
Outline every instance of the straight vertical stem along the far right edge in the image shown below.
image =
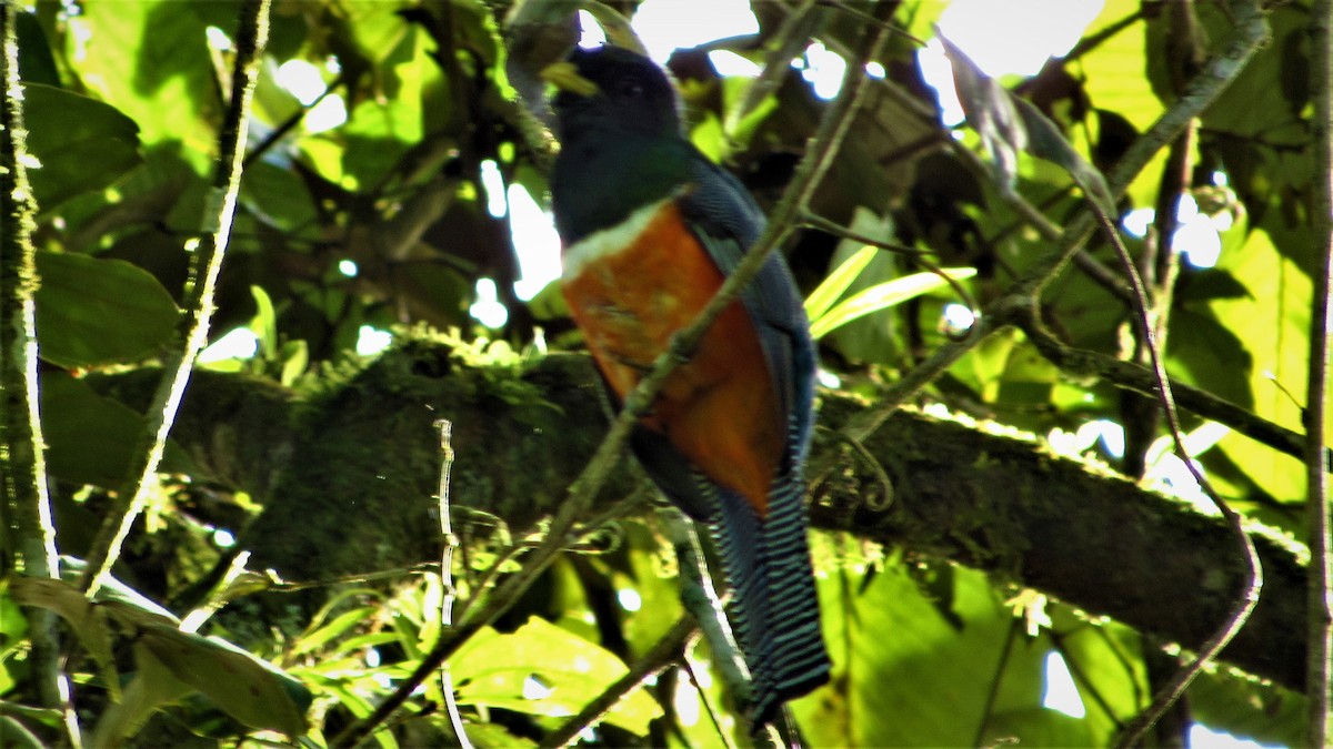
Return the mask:
<svg viewBox="0 0 1333 749">
<path fill-rule="evenodd" d="M 1324 264 L 1314 277 L 1314 301 L 1310 309 L 1310 368 L 1305 396 L 1305 481 L 1306 512 L 1310 537 L 1309 578 L 1309 654 L 1305 657 L 1305 694 L 1309 700 L 1305 742 L 1328 746 L 1333 740 L 1329 725 L 1330 676 L 1333 657 L 1333 574 L 1329 560 L 1329 485 L 1325 430 L 1328 425 L 1329 288 L 1333 285 L 1333 31 L 1329 20 L 1333 0 L 1314 4 L 1310 44 L 1314 63 L 1310 91 L 1314 92 L 1314 164 L 1316 180 L 1314 236 L 1324 244 Z"/>
</svg>

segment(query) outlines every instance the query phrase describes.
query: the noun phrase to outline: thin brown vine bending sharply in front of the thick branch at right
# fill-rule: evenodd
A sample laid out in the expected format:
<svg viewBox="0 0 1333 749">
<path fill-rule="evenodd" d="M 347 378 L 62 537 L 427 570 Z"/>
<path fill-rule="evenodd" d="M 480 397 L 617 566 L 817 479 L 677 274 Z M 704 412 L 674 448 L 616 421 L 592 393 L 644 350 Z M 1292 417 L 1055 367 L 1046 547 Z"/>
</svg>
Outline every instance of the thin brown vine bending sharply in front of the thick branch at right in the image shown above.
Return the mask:
<svg viewBox="0 0 1333 749">
<path fill-rule="evenodd" d="M 1245 621 L 1249 620 L 1250 612 L 1258 605 L 1258 596 L 1264 588 L 1264 568 L 1258 561 L 1258 550 L 1254 548 L 1254 541 L 1245 532 L 1245 520 L 1234 509 L 1226 504 L 1225 500 L 1213 489 L 1208 478 L 1200 472 L 1198 466 L 1194 465 L 1193 457 L 1190 457 L 1189 450 L 1185 449 L 1185 437 L 1180 426 L 1180 414 L 1176 413 L 1176 401 L 1172 398 L 1170 382 L 1166 378 L 1166 367 L 1162 364 L 1161 352 L 1157 348 L 1156 337 L 1153 335 L 1153 323 L 1149 319 L 1148 309 L 1148 292 L 1144 288 L 1144 281 L 1138 276 L 1138 269 L 1134 267 L 1134 260 L 1130 257 L 1129 251 L 1125 249 L 1125 244 L 1120 241 L 1120 235 L 1116 229 L 1116 223 L 1112 221 L 1109 216 L 1101 212 L 1101 208 L 1089 203 L 1089 209 L 1097 215 L 1102 229 L 1106 232 L 1106 239 L 1110 240 L 1112 247 L 1116 248 L 1116 253 L 1120 256 L 1120 261 L 1124 265 L 1125 275 L 1129 277 L 1129 283 L 1133 285 L 1134 297 L 1138 300 L 1136 305 L 1136 323 L 1140 327 L 1140 336 L 1148 348 L 1148 353 L 1152 359 L 1153 374 L 1157 377 L 1157 397 L 1162 406 L 1162 414 L 1166 417 L 1166 425 L 1170 429 L 1172 440 L 1176 442 L 1176 454 L 1193 474 L 1194 480 L 1198 481 L 1198 486 L 1208 494 L 1213 505 L 1222 513 L 1226 518 L 1228 526 L 1236 536 L 1236 542 L 1240 546 L 1241 556 L 1245 558 L 1246 564 L 1246 580 L 1241 585 L 1240 593 L 1236 596 L 1236 601 L 1232 609 L 1228 612 L 1226 620 L 1217 629 L 1217 632 L 1208 638 L 1206 642 L 1198 649 L 1198 654 L 1193 661 L 1180 668 L 1176 676 L 1172 677 L 1158 692 L 1153 696 L 1152 704 L 1134 717 L 1133 721 L 1125 726 L 1125 730 L 1116 740 L 1116 746 L 1136 746 L 1144 734 L 1157 722 L 1161 716 L 1170 709 L 1172 705 L 1180 700 L 1180 696 L 1185 693 L 1189 684 L 1198 676 L 1204 668 L 1208 666 L 1222 652 L 1222 648 L 1236 636 L 1237 632 L 1245 626 Z"/>
</svg>

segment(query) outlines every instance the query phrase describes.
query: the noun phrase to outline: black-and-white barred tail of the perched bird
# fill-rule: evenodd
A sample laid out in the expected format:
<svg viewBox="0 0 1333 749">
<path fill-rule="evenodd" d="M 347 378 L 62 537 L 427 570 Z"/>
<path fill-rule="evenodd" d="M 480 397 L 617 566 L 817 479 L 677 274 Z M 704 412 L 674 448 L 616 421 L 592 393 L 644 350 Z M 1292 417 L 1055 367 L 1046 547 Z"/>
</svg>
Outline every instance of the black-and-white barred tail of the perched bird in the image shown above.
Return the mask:
<svg viewBox="0 0 1333 749">
<path fill-rule="evenodd" d="M 780 480 L 760 520 L 742 497 L 718 490 L 721 512 L 709 522 L 732 590 L 728 618 L 750 672 L 756 726 L 829 676 L 802 493 L 800 480 Z"/>
</svg>

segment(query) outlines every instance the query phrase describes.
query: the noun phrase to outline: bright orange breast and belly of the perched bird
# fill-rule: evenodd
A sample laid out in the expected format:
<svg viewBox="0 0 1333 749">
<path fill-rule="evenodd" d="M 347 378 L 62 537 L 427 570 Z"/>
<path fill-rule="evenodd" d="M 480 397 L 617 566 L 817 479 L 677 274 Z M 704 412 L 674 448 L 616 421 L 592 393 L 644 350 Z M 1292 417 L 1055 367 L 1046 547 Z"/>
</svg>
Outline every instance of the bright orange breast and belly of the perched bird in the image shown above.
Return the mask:
<svg viewBox="0 0 1333 749">
<path fill-rule="evenodd" d="M 624 398 L 721 285 L 722 273 L 668 201 L 631 247 L 584 263 L 563 291 L 597 367 Z M 765 514 L 785 425 L 758 333 L 740 301 L 676 368 L 643 424 Z"/>
</svg>

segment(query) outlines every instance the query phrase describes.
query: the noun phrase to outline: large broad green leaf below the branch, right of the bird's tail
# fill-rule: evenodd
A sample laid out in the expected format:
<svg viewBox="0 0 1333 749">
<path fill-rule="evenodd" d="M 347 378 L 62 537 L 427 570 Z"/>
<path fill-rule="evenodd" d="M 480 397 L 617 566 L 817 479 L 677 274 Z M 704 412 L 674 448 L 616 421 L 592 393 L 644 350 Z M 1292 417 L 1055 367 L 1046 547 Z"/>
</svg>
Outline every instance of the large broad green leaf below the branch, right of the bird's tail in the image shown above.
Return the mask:
<svg viewBox="0 0 1333 749">
<path fill-rule="evenodd" d="M 833 680 L 792 702 L 810 746 L 994 745 L 994 710 L 1040 708 L 1045 648 L 1014 632 L 982 573 L 953 570 L 948 610 L 901 562 L 820 593 Z"/>
</svg>

